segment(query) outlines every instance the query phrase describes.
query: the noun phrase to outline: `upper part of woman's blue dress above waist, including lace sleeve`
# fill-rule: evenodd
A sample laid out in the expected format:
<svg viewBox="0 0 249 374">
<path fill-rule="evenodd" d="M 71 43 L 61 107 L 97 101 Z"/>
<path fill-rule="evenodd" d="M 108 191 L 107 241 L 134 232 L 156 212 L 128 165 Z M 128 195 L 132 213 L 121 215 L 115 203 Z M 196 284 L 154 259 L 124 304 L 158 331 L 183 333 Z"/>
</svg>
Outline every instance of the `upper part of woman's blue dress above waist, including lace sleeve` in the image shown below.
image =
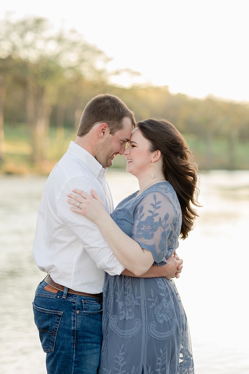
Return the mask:
<svg viewBox="0 0 249 374">
<path fill-rule="evenodd" d="M 142 248 L 152 252 L 155 264 L 165 264 L 178 248 L 181 208 L 168 181 L 153 184 L 122 200 L 111 217 Z"/>
</svg>

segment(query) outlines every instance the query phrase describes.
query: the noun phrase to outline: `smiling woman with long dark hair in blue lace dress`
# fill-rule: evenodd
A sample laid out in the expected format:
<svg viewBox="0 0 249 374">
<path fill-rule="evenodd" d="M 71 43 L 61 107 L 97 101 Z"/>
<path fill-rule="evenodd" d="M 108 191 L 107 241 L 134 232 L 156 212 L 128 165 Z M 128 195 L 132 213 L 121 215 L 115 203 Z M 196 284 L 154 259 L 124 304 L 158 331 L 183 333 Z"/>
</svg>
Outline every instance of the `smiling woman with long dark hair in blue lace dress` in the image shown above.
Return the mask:
<svg viewBox="0 0 249 374">
<path fill-rule="evenodd" d="M 68 200 L 102 230 L 113 253 L 133 276 L 106 274 L 103 344 L 99 373 L 194 373 L 186 315 L 174 282 L 136 278 L 178 248 L 193 227 L 196 165 L 180 132 L 168 121 L 138 122 L 128 148 L 127 172 L 140 190 L 118 204 L 111 217 L 102 200 L 80 190 Z M 80 204 L 79 204 L 80 203 Z M 126 258 L 123 253 L 126 253 Z"/>
</svg>

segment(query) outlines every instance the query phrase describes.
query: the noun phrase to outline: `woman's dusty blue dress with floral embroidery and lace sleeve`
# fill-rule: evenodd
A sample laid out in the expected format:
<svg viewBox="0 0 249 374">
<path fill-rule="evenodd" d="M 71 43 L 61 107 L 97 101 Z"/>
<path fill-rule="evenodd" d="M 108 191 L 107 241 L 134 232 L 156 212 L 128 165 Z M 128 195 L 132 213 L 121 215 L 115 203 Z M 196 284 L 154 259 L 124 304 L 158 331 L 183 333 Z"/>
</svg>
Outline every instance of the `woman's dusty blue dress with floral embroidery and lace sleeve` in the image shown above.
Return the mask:
<svg viewBox="0 0 249 374">
<path fill-rule="evenodd" d="M 137 191 L 138 192 L 138 191 Z M 181 208 L 167 181 L 128 196 L 113 220 L 164 265 L 181 229 Z M 193 374 L 187 318 L 172 280 L 106 274 L 100 374 Z"/>
</svg>

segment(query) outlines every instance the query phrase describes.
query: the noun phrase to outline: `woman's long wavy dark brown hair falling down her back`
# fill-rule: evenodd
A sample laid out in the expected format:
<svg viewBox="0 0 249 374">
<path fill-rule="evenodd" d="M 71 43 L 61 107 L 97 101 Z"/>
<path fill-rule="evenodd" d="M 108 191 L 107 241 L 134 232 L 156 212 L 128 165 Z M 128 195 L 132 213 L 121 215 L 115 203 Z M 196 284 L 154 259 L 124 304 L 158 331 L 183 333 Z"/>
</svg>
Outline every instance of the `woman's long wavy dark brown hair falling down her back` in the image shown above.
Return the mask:
<svg viewBox="0 0 249 374">
<path fill-rule="evenodd" d="M 198 170 L 181 133 L 172 123 L 164 119 L 146 119 L 137 123 L 138 128 L 150 143 L 150 151 L 161 151 L 165 179 L 174 188 L 182 213 L 181 239 L 186 239 L 198 217 L 192 205 L 197 202 L 196 187 Z"/>
</svg>

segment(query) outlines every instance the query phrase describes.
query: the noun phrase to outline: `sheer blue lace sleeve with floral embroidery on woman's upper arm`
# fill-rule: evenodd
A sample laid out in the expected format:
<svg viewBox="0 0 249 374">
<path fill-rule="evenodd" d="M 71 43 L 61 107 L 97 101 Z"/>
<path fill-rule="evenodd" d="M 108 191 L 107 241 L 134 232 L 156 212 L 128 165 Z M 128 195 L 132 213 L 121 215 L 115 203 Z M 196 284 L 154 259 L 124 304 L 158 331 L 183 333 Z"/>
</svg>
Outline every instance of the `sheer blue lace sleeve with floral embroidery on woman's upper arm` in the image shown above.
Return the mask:
<svg viewBox="0 0 249 374">
<path fill-rule="evenodd" d="M 152 252 L 155 265 L 164 265 L 178 247 L 177 212 L 167 196 L 147 194 L 136 209 L 132 238 Z"/>
</svg>

